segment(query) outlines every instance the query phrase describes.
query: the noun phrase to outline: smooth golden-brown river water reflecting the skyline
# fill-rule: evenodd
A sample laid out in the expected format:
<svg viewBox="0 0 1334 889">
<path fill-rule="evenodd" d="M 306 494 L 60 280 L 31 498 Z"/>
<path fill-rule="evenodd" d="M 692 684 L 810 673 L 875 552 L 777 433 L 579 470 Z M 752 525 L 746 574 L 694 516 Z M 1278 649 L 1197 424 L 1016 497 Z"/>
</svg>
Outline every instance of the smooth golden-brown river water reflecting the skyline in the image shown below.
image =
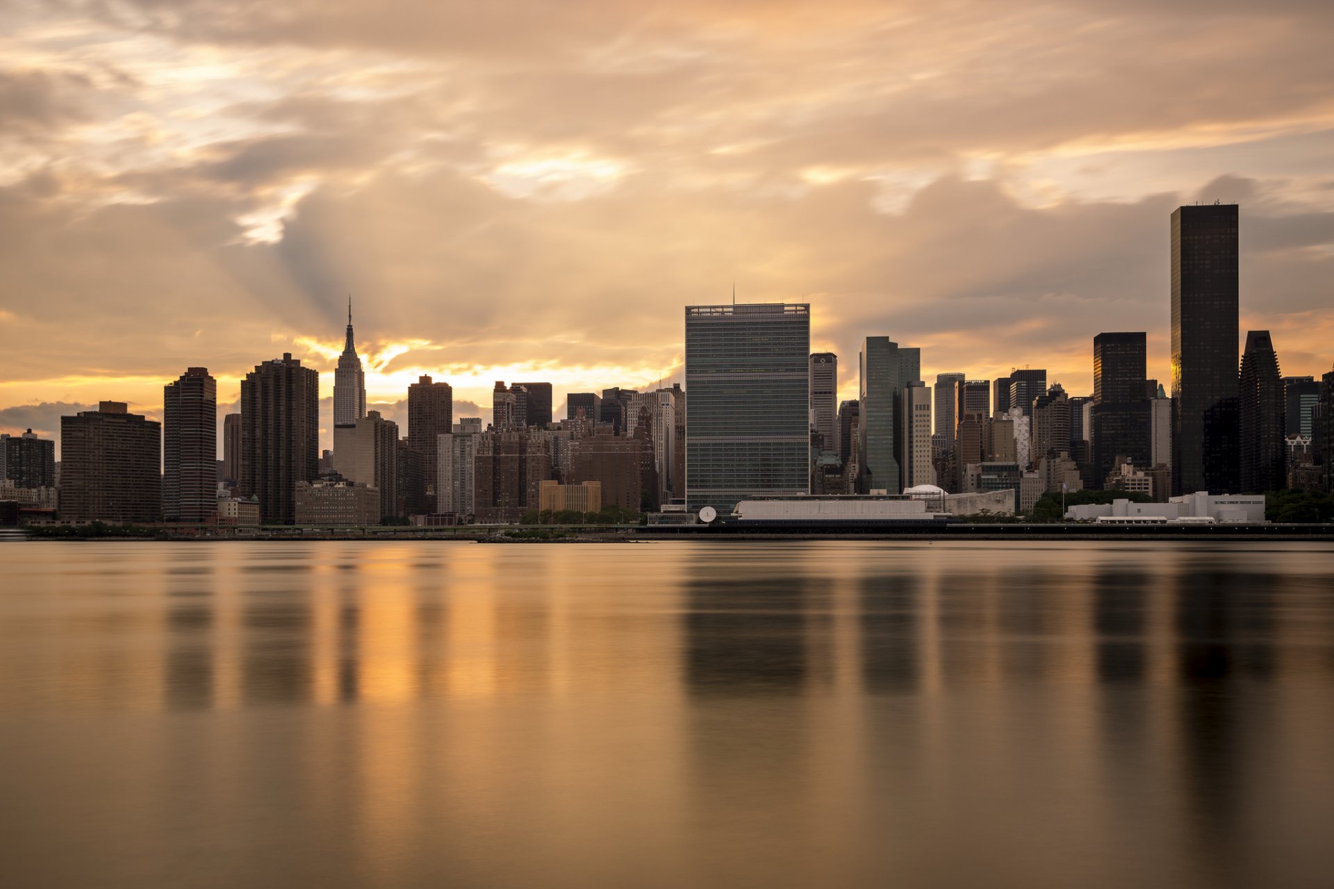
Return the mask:
<svg viewBox="0 0 1334 889">
<path fill-rule="evenodd" d="M 0 885 L 1334 885 L 1334 549 L 0 545 Z"/>
</svg>

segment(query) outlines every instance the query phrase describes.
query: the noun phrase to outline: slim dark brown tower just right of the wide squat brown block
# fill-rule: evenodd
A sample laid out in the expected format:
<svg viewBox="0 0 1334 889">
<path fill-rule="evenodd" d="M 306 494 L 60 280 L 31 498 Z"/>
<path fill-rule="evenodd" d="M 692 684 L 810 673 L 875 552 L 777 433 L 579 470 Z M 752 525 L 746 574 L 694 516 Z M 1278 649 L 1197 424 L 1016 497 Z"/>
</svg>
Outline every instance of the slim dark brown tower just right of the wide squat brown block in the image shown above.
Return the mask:
<svg viewBox="0 0 1334 889">
<path fill-rule="evenodd" d="M 163 387 L 163 517 L 199 525 L 217 517 L 217 381 L 187 368 Z"/>
</svg>

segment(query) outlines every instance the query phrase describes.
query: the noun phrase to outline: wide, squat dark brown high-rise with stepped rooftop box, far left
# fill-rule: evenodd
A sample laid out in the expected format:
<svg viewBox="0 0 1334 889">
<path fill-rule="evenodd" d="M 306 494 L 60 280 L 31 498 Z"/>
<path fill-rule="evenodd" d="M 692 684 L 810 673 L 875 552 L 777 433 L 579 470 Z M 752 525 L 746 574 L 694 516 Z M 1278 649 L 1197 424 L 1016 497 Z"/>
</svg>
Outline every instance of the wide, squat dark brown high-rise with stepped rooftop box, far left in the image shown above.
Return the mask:
<svg viewBox="0 0 1334 889">
<path fill-rule="evenodd" d="M 60 517 L 161 520 L 161 424 L 123 401 L 60 417 Z"/>
</svg>

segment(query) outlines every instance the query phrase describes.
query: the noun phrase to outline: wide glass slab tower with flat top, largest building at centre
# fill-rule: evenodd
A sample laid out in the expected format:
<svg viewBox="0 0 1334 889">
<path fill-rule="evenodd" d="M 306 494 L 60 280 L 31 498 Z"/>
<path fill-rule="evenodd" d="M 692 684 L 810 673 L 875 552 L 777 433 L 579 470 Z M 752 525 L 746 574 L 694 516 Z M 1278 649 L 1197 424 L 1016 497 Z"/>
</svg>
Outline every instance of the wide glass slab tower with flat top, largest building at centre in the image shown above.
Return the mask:
<svg viewBox="0 0 1334 889">
<path fill-rule="evenodd" d="M 690 510 L 810 492 L 810 344 L 804 303 L 686 308 Z"/>
</svg>

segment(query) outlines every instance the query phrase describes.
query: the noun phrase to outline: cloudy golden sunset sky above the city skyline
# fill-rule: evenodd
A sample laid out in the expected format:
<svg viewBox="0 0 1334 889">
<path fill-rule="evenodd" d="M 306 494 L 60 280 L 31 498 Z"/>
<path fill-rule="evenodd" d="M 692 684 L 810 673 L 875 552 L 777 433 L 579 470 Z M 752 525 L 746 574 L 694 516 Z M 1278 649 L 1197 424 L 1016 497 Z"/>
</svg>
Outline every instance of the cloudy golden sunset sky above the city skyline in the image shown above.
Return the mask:
<svg viewBox="0 0 1334 889">
<path fill-rule="evenodd" d="M 682 376 L 682 307 L 812 304 L 923 372 L 1147 331 L 1169 215 L 1242 205 L 1242 332 L 1334 360 L 1327 0 L 0 0 L 0 431 L 101 399 L 235 403 L 292 352 L 332 391 L 490 415 Z M 227 409 L 224 407 L 224 409 Z M 328 407 L 324 421 L 328 424 Z M 562 409 L 558 407 L 558 416 Z"/>
</svg>

